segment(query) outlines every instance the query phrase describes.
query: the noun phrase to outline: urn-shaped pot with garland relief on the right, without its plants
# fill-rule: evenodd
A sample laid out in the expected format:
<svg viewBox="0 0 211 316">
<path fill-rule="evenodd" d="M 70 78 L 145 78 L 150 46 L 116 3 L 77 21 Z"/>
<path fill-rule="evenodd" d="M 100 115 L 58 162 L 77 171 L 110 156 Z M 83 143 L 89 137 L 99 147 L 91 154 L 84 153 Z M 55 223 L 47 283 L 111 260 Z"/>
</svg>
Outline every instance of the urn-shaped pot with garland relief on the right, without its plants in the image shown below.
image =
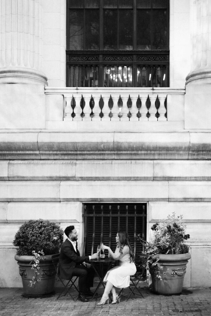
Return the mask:
<svg viewBox="0 0 211 316">
<path fill-rule="evenodd" d="M 153 292 L 158 294 L 179 294 L 183 289 L 186 265 L 190 253 L 177 255 L 159 255 L 160 270 L 150 269 Z M 161 276 L 162 280 L 158 276 Z"/>
</svg>

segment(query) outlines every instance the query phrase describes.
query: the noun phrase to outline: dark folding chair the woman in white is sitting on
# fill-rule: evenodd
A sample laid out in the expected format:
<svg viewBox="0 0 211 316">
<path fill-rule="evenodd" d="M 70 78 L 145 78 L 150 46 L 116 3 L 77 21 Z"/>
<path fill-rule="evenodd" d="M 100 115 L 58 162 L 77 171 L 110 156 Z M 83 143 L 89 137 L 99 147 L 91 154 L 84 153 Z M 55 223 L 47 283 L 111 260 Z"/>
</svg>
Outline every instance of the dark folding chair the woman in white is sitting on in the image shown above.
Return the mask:
<svg viewBox="0 0 211 316">
<path fill-rule="evenodd" d="M 138 263 L 141 263 L 141 265 L 140 265 L 141 272 L 136 272 L 133 276 L 130 276 L 130 281 L 132 284 L 130 284 L 130 286 L 129 286 L 129 290 L 130 290 L 129 295 L 128 296 L 123 295 L 124 288 L 121 289 L 121 291 L 119 292 L 119 295 L 127 297 L 127 300 L 130 298 L 131 294 L 138 295 L 138 296 L 141 296 L 144 298 L 144 296 L 140 292 L 140 289 L 138 288 L 138 284 L 139 284 L 141 278 L 145 274 L 146 261 L 147 261 L 147 255 L 145 253 L 141 253 L 141 255 L 138 258 Z M 136 262 L 137 262 L 137 260 L 136 260 Z"/>
</svg>

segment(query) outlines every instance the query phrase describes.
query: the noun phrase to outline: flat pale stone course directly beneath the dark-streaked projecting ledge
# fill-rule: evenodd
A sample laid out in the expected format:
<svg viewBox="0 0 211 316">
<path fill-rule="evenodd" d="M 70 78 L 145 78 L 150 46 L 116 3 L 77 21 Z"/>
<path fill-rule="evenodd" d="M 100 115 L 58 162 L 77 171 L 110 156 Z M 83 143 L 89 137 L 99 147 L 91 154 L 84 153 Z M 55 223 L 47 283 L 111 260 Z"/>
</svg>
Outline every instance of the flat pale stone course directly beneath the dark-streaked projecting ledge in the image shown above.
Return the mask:
<svg viewBox="0 0 211 316">
<path fill-rule="evenodd" d="M 211 161 L 7 160 L 0 180 L 211 180 Z"/>
</svg>

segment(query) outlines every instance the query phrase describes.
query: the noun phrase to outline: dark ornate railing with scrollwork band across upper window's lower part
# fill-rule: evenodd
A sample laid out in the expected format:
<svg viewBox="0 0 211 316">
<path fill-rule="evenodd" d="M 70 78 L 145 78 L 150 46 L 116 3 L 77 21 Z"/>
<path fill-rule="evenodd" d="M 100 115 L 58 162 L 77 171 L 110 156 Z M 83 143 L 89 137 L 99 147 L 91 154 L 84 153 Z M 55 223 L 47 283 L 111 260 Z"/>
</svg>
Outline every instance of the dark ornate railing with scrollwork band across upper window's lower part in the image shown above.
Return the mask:
<svg viewBox="0 0 211 316">
<path fill-rule="evenodd" d="M 169 87 L 169 51 L 66 53 L 67 87 Z"/>
</svg>

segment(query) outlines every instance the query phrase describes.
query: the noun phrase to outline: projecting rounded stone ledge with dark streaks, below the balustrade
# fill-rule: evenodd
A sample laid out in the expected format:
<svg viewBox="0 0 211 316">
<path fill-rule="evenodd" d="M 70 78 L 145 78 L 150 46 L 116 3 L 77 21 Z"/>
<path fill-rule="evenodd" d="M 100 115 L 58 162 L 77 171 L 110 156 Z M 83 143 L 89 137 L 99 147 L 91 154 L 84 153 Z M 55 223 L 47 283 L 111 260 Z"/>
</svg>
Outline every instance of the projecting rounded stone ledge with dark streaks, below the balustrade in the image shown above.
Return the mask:
<svg viewBox="0 0 211 316">
<path fill-rule="evenodd" d="M 210 132 L 0 134 L 0 159 L 210 159 Z"/>
</svg>

